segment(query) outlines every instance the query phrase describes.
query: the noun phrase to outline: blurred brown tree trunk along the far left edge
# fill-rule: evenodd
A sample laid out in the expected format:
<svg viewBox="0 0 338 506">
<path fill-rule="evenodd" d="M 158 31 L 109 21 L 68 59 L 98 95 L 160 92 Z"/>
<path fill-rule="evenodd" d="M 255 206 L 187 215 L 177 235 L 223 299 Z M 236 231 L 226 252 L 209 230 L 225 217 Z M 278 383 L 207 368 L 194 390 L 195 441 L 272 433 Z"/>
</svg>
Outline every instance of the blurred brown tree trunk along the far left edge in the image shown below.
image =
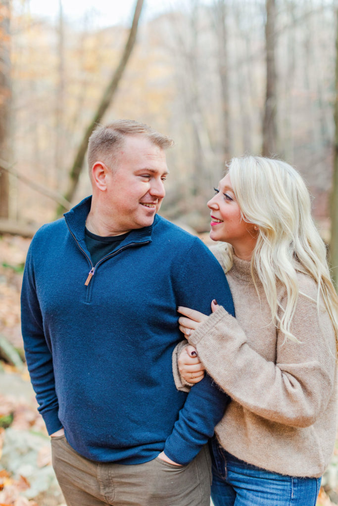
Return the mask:
<svg viewBox="0 0 338 506">
<path fill-rule="evenodd" d="M 10 158 L 10 0 L 0 2 L 0 153 Z M 0 218 L 9 217 L 9 176 L 0 167 Z"/>
</svg>

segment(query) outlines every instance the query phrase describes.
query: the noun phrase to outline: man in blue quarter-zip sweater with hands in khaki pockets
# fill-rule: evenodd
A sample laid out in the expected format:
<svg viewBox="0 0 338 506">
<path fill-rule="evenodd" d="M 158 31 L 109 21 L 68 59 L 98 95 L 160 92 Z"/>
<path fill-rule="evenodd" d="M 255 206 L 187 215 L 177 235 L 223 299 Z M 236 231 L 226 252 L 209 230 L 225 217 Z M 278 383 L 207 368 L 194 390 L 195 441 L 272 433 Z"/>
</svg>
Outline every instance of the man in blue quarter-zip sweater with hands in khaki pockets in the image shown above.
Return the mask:
<svg viewBox="0 0 338 506">
<path fill-rule="evenodd" d="M 228 398 L 209 376 L 175 389 L 176 308 L 234 309 L 208 249 L 157 215 L 171 145 L 136 121 L 99 126 L 92 197 L 27 255 L 22 334 L 68 506 L 209 504 L 205 443 Z"/>
</svg>

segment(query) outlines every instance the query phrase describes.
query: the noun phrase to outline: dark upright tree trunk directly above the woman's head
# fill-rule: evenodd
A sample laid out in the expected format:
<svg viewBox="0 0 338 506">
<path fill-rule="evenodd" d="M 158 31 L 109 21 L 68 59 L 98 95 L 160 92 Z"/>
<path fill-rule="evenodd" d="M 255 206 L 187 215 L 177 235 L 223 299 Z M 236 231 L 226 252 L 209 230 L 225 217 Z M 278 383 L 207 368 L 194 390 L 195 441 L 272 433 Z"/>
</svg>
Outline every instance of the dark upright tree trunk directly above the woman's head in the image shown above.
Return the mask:
<svg viewBox="0 0 338 506">
<path fill-rule="evenodd" d="M 267 92 L 263 120 L 262 155 L 271 156 L 277 153 L 276 126 L 276 64 L 275 64 L 275 0 L 266 0 L 267 22 L 265 26 L 267 52 Z"/>
</svg>

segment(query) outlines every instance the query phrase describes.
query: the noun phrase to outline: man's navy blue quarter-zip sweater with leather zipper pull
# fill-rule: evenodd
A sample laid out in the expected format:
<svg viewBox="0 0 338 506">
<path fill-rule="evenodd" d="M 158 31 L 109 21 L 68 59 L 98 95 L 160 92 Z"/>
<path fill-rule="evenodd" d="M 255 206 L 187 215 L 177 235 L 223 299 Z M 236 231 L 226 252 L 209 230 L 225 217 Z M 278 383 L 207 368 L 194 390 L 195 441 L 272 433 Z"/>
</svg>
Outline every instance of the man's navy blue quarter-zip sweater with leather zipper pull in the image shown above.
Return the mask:
<svg viewBox="0 0 338 506">
<path fill-rule="evenodd" d="M 22 334 L 39 410 L 49 434 L 64 427 L 89 459 L 135 464 L 164 449 L 187 463 L 212 436 L 228 397 L 209 376 L 187 397 L 176 390 L 176 309 L 208 314 L 216 299 L 233 314 L 227 280 L 198 238 L 159 216 L 93 266 L 90 205 L 88 197 L 44 225 L 27 255 Z"/>
</svg>

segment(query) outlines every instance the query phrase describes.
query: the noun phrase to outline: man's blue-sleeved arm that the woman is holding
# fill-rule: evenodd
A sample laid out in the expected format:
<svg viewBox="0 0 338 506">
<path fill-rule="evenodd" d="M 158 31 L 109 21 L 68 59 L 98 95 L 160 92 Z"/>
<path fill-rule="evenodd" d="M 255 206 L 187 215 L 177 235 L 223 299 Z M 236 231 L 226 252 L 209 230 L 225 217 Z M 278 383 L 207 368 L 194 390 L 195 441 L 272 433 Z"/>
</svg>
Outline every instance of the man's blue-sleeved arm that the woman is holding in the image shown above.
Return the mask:
<svg viewBox="0 0 338 506">
<path fill-rule="evenodd" d="M 177 305 L 210 314 L 211 301 L 216 299 L 230 314 L 235 314 L 223 270 L 199 239 L 194 241 L 184 264 L 179 267 L 179 272 L 176 272 Z M 229 401 L 230 397 L 206 374 L 191 389 L 179 412 L 173 432 L 165 443 L 167 457 L 183 465 L 189 463 L 213 435 L 214 427 L 222 418 Z"/>
</svg>

